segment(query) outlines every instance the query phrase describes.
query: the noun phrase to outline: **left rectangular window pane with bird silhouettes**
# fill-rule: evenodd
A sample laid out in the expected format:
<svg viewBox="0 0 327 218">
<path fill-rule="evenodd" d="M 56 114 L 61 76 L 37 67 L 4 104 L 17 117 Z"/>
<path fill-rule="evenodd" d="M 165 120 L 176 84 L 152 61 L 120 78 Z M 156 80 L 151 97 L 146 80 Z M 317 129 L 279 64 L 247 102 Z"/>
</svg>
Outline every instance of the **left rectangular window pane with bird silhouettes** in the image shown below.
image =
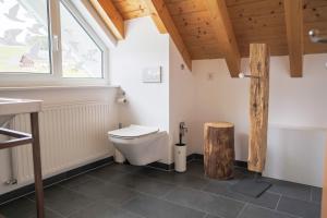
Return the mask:
<svg viewBox="0 0 327 218">
<path fill-rule="evenodd" d="M 0 1 L 0 72 L 50 73 L 47 1 Z"/>
</svg>

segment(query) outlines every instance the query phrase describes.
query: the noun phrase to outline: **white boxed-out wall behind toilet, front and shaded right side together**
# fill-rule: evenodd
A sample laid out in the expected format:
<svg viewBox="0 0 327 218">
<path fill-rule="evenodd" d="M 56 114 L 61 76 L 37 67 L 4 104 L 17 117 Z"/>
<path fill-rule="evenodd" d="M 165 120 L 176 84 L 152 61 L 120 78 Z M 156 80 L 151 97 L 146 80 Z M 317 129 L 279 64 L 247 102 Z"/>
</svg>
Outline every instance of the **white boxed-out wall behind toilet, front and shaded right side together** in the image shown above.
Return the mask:
<svg viewBox="0 0 327 218">
<path fill-rule="evenodd" d="M 179 123 L 186 122 L 186 141 L 192 148 L 194 88 L 193 74 L 181 69 L 183 59 L 168 35 L 158 32 L 150 17 L 128 21 L 126 37 L 111 50 L 111 82 L 126 93 L 129 104 L 120 106 L 120 121 L 159 126 L 169 133 L 162 162 L 173 162 L 173 145 L 178 143 Z M 142 82 L 142 71 L 162 68 L 162 83 Z M 182 99 L 182 100 L 181 100 Z"/>
</svg>

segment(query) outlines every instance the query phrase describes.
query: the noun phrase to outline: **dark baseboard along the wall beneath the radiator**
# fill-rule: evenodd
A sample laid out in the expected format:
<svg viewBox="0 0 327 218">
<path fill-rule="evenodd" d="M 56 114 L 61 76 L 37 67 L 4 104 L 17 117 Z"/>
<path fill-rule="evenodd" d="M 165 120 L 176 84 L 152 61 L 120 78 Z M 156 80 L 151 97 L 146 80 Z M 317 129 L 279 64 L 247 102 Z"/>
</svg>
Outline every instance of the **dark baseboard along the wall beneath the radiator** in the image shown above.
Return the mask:
<svg viewBox="0 0 327 218">
<path fill-rule="evenodd" d="M 92 169 L 95 169 L 97 167 L 100 167 L 100 166 L 104 166 L 104 165 L 107 165 L 110 162 L 113 162 L 113 157 L 107 157 L 105 159 L 100 159 L 95 162 L 90 162 L 88 165 L 84 165 L 78 168 L 69 170 L 66 172 L 56 174 L 53 177 L 45 179 L 44 186 L 49 186 L 49 185 L 56 184 L 60 181 L 66 180 L 69 178 L 75 177 L 77 174 L 81 174 L 83 172 L 89 171 Z M 22 197 L 26 194 L 33 193 L 34 191 L 35 191 L 35 189 L 34 189 L 34 183 L 33 183 L 33 184 L 28 184 L 26 186 L 20 187 L 17 190 L 13 190 L 11 192 L 4 193 L 4 194 L 0 195 L 0 205 L 4 204 L 7 202 L 10 202 L 12 199 Z"/>
</svg>

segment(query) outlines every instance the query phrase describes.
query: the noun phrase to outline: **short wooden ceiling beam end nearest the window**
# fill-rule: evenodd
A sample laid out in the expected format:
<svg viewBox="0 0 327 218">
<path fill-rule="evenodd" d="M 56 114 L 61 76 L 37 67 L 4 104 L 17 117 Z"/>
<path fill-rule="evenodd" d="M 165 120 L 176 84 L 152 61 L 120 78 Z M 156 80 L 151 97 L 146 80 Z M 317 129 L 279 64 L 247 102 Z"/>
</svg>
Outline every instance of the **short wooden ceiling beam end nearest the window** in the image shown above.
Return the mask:
<svg viewBox="0 0 327 218">
<path fill-rule="evenodd" d="M 90 0 L 92 5 L 99 13 L 110 32 L 118 40 L 125 37 L 124 20 L 111 0 Z"/>
</svg>

